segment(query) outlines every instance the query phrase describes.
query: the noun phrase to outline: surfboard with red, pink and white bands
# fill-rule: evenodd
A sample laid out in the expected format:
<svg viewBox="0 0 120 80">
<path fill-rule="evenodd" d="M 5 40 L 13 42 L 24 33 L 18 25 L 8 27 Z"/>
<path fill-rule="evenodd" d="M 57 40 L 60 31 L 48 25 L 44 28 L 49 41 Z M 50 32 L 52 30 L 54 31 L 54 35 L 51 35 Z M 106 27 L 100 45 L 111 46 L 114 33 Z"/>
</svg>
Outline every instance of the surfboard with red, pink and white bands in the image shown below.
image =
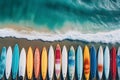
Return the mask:
<svg viewBox="0 0 120 80">
<path fill-rule="evenodd" d="M 57 44 L 56 50 L 55 50 L 55 75 L 56 78 L 60 78 L 61 73 L 61 48 L 60 45 Z"/>
</svg>

